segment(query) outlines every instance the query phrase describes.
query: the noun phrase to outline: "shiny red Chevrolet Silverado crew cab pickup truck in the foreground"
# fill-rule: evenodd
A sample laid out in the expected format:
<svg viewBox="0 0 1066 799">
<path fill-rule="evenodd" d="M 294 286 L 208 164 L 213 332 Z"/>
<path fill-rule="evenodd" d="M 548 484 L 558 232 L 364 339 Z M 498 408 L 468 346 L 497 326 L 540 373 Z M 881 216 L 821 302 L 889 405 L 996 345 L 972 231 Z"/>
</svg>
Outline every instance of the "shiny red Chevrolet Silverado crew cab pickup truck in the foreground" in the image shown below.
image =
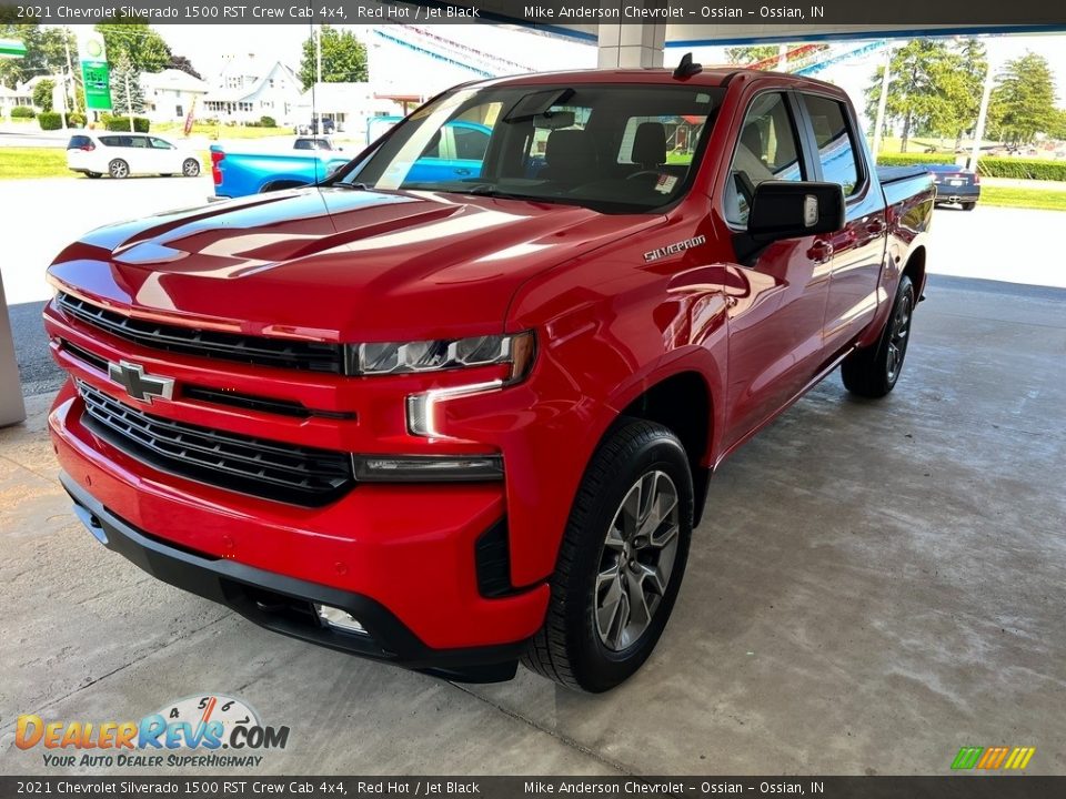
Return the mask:
<svg viewBox="0 0 1066 799">
<path fill-rule="evenodd" d="M 413 179 L 453 120 L 491 130 L 481 169 Z M 813 80 L 461 85 L 319 185 L 66 247 L 62 482 L 105 546 L 271 629 L 606 690 L 723 458 L 838 365 L 892 391 L 934 200 Z"/>
</svg>

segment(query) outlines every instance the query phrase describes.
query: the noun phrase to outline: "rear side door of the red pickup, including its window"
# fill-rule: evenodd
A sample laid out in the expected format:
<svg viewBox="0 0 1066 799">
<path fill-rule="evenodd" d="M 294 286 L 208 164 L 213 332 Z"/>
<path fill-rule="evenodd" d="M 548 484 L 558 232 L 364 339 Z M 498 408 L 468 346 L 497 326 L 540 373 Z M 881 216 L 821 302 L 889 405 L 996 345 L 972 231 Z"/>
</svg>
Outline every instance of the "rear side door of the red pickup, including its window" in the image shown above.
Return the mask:
<svg viewBox="0 0 1066 799">
<path fill-rule="evenodd" d="M 846 200 L 844 229 L 817 237 L 829 254 L 825 347 L 832 353 L 855 338 L 877 310 L 877 286 L 888 237 L 881 185 L 867 170 L 865 150 L 847 104 L 828 94 L 800 92 L 800 107 L 815 180 L 839 183 Z"/>
</svg>

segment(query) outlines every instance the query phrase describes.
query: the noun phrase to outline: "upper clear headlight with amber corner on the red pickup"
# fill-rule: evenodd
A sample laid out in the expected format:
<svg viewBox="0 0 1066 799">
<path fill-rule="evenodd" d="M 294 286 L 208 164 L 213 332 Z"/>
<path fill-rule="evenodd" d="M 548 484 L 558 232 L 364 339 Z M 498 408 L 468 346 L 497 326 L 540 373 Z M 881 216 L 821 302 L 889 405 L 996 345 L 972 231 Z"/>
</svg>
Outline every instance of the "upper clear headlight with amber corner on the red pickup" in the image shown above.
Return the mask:
<svg viewBox="0 0 1066 799">
<path fill-rule="evenodd" d="M 510 375 L 504 382 L 513 383 L 525 377 L 533 365 L 533 332 L 457 340 L 350 344 L 345 352 L 350 375 L 412 374 L 510 364 Z"/>
</svg>

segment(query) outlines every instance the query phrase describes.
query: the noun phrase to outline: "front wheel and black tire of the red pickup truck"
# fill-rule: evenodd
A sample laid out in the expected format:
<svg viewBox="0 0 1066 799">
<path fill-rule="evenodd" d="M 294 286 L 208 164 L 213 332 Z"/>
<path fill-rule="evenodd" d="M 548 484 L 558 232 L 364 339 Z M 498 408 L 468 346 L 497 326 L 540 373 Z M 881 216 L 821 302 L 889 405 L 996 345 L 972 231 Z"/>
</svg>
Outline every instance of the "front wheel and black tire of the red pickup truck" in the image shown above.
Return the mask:
<svg viewBox="0 0 1066 799">
<path fill-rule="evenodd" d="M 612 534 L 620 530 L 615 525 L 621 524 L 620 515 L 625 512 L 623 500 L 630 499 L 638 485 L 652 486 L 647 490 L 650 505 L 657 499 L 668 504 L 670 487 L 674 489 L 675 503 L 663 514 L 662 505 L 648 508 L 646 523 L 652 526 L 645 528 L 636 522 L 623 554 L 621 547 L 612 544 L 621 544 L 622 539 Z M 660 488 L 666 490 L 660 493 Z M 637 516 L 643 512 L 641 498 L 638 493 Z M 662 519 L 658 524 L 652 523 L 653 510 L 655 518 Z M 523 656 L 523 665 L 567 688 L 590 692 L 614 688 L 633 675 L 655 648 L 677 598 L 688 557 L 692 517 L 692 474 L 681 442 L 660 424 L 620 419 L 585 469 L 551 579 L 552 596 L 544 626 Z M 644 543 L 640 544 L 642 539 Z M 664 578 L 662 558 L 671 549 Z M 647 585 L 650 593 L 645 593 L 645 579 L 652 575 L 655 579 Z M 616 615 L 609 611 L 607 605 L 599 607 L 610 601 L 615 587 L 619 599 L 610 607 L 616 608 Z M 630 597 L 634 590 L 640 591 L 641 598 L 632 601 L 642 603 L 643 615 L 633 613 Z M 609 629 L 604 631 L 606 618 Z M 631 623 L 638 631 L 627 638 Z M 613 639 L 612 630 L 617 633 Z"/>
</svg>

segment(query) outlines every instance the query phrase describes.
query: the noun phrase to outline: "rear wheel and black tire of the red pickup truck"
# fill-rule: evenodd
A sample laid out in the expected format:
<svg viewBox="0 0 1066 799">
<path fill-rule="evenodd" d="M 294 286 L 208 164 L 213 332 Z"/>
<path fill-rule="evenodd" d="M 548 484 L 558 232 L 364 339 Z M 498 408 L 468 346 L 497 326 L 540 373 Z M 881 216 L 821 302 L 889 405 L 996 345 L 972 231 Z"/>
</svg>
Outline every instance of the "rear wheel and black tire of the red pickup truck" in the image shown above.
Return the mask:
<svg viewBox="0 0 1066 799">
<path fill-rule="evenodd" d="M 841 364 L 844 387 L 864 397 L 883 397 L 899 380 L 903 362 L 911 342 L 911 321 L 914 316 L 914 284 L 903 275 L 896 289 L 892 313 L 873 346 L 856 350 Z"/>
</svg>

